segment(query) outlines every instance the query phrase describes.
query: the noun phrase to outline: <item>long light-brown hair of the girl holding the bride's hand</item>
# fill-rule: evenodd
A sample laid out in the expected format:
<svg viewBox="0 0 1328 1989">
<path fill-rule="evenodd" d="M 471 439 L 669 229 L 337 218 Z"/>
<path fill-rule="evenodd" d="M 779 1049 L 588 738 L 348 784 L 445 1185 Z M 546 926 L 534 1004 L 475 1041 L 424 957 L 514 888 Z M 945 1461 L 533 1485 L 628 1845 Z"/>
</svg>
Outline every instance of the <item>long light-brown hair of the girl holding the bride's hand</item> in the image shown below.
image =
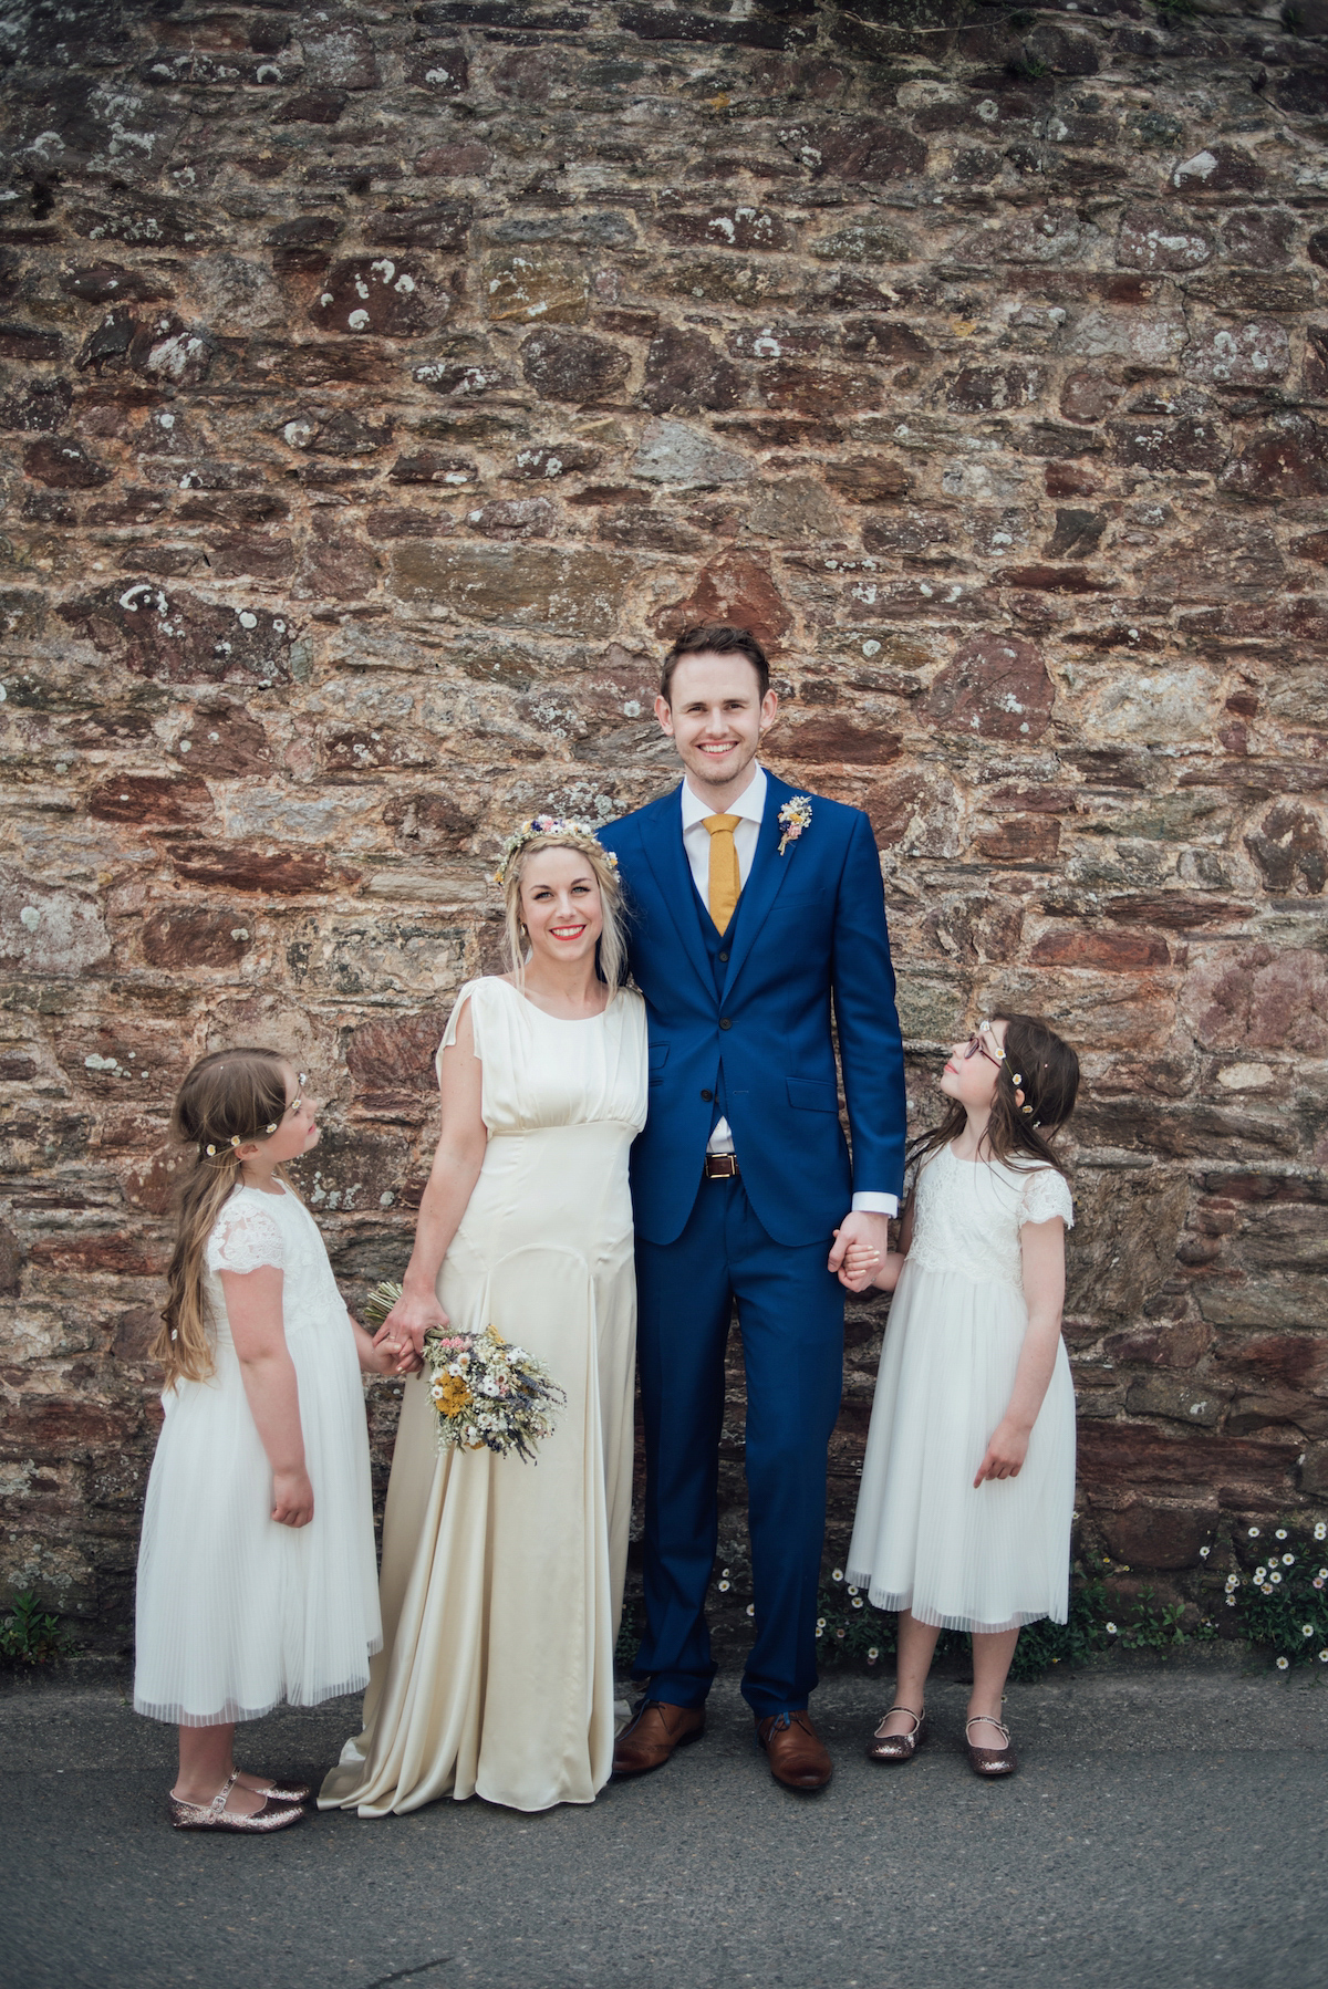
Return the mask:
<svg viewBox="0 0 1328 1989">
<path fill-rule="evenodd" d="M 165 1386 L 207 1380 L 213 1343 L 203 1309 L 203 1253 L 221 1205 L 239 1181 L 237 1148 L 281 1126 L 287 1080 L 281 1050 L 217 1050 L 201 1058 L 179 1086 L 171 1112 L 173 1136 L 193 1148 L 175 1201 L 175 1255 L 165 1273 L 161 1331 L 151 1343 L 165 1368 Z M 277 1170 L 281 1172 L 281 1170 Z"/>
</svg>

